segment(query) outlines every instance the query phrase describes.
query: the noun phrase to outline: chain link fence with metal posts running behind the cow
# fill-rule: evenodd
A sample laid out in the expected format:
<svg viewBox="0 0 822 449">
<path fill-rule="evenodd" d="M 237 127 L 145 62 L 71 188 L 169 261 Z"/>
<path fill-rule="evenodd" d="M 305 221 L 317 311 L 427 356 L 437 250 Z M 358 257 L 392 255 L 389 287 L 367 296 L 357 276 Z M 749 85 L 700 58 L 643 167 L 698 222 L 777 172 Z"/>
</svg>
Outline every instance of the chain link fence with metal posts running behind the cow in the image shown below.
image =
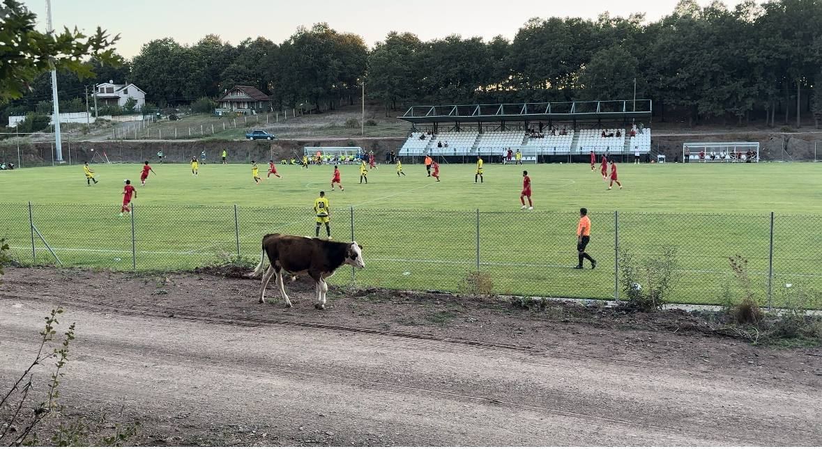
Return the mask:
<svg viewBox="0 0 822 449">
<path fill-rule="evenodd" d="M 751 289 L 763 302 L 794 285 L 822 290 L 822 246 L 815 244 L 822 216 L 591 213 L 587 252 L 598 265 L 576 270 L 577 213 L 403 210 L 387 201 L 386 208 L 334 211 L 332 236 L 363 245 L 367 268 L 340 270 L 332 282 L 459 292 L 482 273 L 491 293 L 618 299 L 621 252 L 642 260 L 675 249 L 677 302 L 716 304 L 723 291 L 738 290 L 728 260 L 736 255 L 748 261 Z M 315 231 L 311 208 L 133 210 L 119 217 L 118 206 L 0 204 L 0 237 L 22 264 L 145 272 L 256 263 L 266 233 Z"/>
</svg>

